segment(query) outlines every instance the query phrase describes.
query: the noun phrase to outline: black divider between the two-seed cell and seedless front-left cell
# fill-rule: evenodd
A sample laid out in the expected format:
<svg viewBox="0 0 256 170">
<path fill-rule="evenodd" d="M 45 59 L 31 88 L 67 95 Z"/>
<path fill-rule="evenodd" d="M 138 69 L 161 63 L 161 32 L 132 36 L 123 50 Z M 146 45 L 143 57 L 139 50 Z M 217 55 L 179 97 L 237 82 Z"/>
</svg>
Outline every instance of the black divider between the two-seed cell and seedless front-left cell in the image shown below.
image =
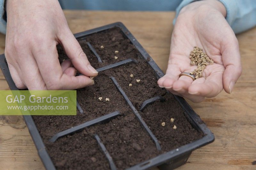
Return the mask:
<svg viewBox="0 0 256 170">
<path fill-rule="evenodd" d="M 76 132 L 77 130 L 80 130 L 80 129 L 92 126 L 92 125 L 94 125 L 96 123 L 106 122 L 106 121 L 108 121 L 110 119 L 115 118 L 118 115 L 120 115 L 120 112 L 119 111 L 115 111 L 115 112 L 112 112 L 112 113 L 110 113 L 108 115 L 104 115 L 104 116 L 98 117 L 96 119 L 84 122 L 84 123 L 82 123 L 80 125 L 74 126 L 72 128 L 63 130 L 63 131 L 55 134 L 49 141 L 50 142 L 55 142 L 60 137 L 63 137 L 63 136 L 68 135 L 68 134 L 72 134 L 72 133 Z"/>
</svg>

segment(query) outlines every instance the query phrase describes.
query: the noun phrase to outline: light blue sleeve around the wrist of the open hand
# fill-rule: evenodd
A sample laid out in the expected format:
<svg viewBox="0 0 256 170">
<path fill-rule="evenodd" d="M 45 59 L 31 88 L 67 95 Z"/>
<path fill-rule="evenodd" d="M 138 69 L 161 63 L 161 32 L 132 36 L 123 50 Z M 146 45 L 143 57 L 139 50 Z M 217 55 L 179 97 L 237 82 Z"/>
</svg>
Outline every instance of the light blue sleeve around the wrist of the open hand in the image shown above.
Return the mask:
<svg viewBox="0 0 256 170">
<path fill-rule="evenodd" d="M 196 0 L 183 0 L 176 9 L 176 18 L 184 6 Z M 219 0 L 227 10 L 226 20 L 235 33 L 240 33 L 256 26 L 255 0 Z"/>
</svg>

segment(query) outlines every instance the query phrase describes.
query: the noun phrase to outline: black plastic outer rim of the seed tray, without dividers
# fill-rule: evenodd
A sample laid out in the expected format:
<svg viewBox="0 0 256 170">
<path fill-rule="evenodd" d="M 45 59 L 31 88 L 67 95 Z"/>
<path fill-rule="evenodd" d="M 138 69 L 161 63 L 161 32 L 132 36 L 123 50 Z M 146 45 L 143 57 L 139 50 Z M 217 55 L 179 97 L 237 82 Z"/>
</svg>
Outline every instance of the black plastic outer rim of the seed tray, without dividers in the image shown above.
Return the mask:
<svg viewBox="0 0 256 170">
<path fill-rule="evenodd" d="M 121 22 L 116 22 L 116 23 L 112 23 L 109 25 L 94 28 L 94 29 L 91 29 L 88 31 L 84 31 L 81 33 L 76 33 L 76 34 L 74 34 L 74 36 L 79 40 L 79 39 L 82 39 L 86 35 L 89 35 L 92 33 L 98 33 L 98 32 L 104 31 L 104 30 L 108 30 L 112 27 L 119 27 L 122 30 L 122 33 L 124 34 L 124 36 L 126 36 L 128 39 L 130 39 L 130 41 L 135 46 L 135 48 L 137 48 L 139 50 L 139 52 L 141 53 L 141 55 L 148 61 L 148 64 L 156 72 L 158 78 L 164 76 L 164 73 L 162 72 L 162 70 L 160 70 L 160 68 L 156 65 L 156 63 L 153 61 L 153 59 L 148 55 L 148 53 L 145 51 L 145 49 L 140 45 L 140 43 L 135 39 L 135 37 L 132 35 L 132 33 L 130 33 L 130 31 Z M 0 67 L 1 67 L 1 70 L 3 71 L 4 77 L 7 81 L 10 89 L 11 90 L 19 90 L 15 86 L 15 84 L 11 78 L 8 66 L 5 63 L 4 54 L 0 55 Z M 204 133 L 204 137 L 202 137 L 201 139 L 198 139 L 192 143 L 180 146 L 179 148 L 173 149 L 164 154 L 158 155 L 152 159 L 149 159 L 147 161 L 139 163 L 139 164 L 132 166 L 128 169 L 141 169 L 142 170 L 142 169 L 148 169 L 148 168 L 151 168 L 154 166 L 160 166 L 160 165 L 166 165 L 168 168 L 168 165 L 167 165 L 168 162 L 170 162 L 173 159 L 177 159 L 179 157 L 180 157 L 180 159 L 183 159 L 182 157 L 185 156 L 186 158 L 184 159 L 185 160 L 184 162 L 175 164 L 175 166 L 170 166 L 171 168 L 176 168 L 176 167 L 183 165 L 187 161 L 190 153 L 193 150 L 214 141 L 213 133 L 204 124 L 204 122 L 200 119 L 200 117 L 194 112 L 194 110 L 188 105 L 188 103 L 182 97 L 175 96 L 175 95 L 174 95 L 174 97 L 176 100 L 179 101 L 181 107 L 185 110 L 184 114 L 188 118 L 188 121 L 192 124 L 192 126 L 195 129 L 202 131 Z M 34 129 L 31 128 L 31 126 L 36 127 L 36 125 L 32 119 L 32 116 L 23 115 L 23 117 L 25 119 L 25 122 L 28 126 L 29 132 L 34 140 L 34 143 L 38 150 L 38 154 L 39 154 L 45 168 L 46 169 L 55 169 L 55 166 L 53 165 L 52 160 L 50 159 L 48 153 L 46 152 L 44 143 L 42 141 L 42 138 L 41 138 L 37 128 L 34 128 Z"/>
</svg>

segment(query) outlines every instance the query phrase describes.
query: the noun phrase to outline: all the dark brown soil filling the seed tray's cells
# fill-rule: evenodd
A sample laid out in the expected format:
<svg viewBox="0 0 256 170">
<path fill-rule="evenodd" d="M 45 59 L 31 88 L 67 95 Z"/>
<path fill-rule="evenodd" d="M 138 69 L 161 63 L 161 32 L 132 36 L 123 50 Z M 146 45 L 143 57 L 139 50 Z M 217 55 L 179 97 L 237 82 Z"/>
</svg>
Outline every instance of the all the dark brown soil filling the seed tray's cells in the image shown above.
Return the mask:
<svg viewBox="0 0 256 170">
<path fill-rule="evenodd" d="M 94 134 L 99 135 L 118 169 L 134 166 L 203 137 L 203 134 L 188 122 L 174 96 L 157 85 L 154 70 L 119 28 L 88 35 L 78 39 L 78 42 L 96 69 L 128 58 L 135 59 L 138 63 L 127 63 L 101 71 L 94 78 L 95 85 L 78 89 L 77 101 L 84 110 L 84 114 L 80 114 L 77 110 L 76 116 L 33 116 L 57 169 L 109 169 L 108 159 L 97 144 Z M 86 42 L 91 43 L 101 57 L 102 63 L 98 62 Z M 104 48 L 100 48 L 101 46 Z M 65 50 L 60 45 L 57 48 L 60 63 L 63 59 L 68 59 Z M 118 53 L 116 54 L 115 51 Z M 133 78 L 130 77 L 131 74 Z M 155 143 L 140 125 L 139 120 L 109 78 L 110 76 L 116 78 L 138 111 L 140 105 L 149 98 L 163 96 L 166 99 L 165 102 L 156 101 L 147 106 L 143 112 L 139 111 L 158 139 L 161 151 L 157 151 Z M 136 79 L 140 82 L 138 83 Z M 102 97 L 101 101 L 99 97 Z M 109 101 L 105 101 L 106 98 L 109 98 Z M 121 115 L 109 122 L 87 127 L 61 137 L 54 143 L 49 142 L 53 135 L 62 130 L 116 110 Z M 170 121 L 171 118 L 174 118 L 174 122 Z M 161 125 L 162 122 L 165 122 L 164 127 Z M 173 129 L 174 125 L 177 129 Z"/>
</svg>

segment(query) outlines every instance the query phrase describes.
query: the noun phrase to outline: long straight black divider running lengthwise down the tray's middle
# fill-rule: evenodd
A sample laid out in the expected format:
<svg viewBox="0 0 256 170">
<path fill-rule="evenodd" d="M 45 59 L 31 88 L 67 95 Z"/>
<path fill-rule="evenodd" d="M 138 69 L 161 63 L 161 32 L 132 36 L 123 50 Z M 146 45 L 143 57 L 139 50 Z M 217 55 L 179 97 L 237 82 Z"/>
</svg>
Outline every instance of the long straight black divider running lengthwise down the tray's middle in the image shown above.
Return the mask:
<svg viewBox="0 0 256 170">
<path fill-rule="evenodd" d="M 137 117 L 137 119 L 139 120 L 140 124 L 144 127 L 144 129 L 148 132 L 149 136 L 151 137 L 151 139 L 155 142 L 156 144 L 156 148 L 158 151 L 161 150 L 161 146 L 157 140 L 157 138 L 155 137 L 155 135 L 152 133 L 152 131 L 148 128 L 148 125 L 144 122 L 144 120 L 142 119 L 142 117 L 140 116 L 139 112 L 137 111 L 137 109 L 133 106 L 131 100 L 128 98 L 128 96 L 125 94 L 124 90 L 120 87 L 120 85 L 117 83 L 116 79 L 114 77 L 110 77 L 113 81 L 113 83 L 115 84 L 116 88 L 118 89 L 118 91 L 123 95 L 124 100 L 127 102 L 127 104 L 131 107 L 132 112 L 134 113 L 134 115 Z"/>
</svg>

